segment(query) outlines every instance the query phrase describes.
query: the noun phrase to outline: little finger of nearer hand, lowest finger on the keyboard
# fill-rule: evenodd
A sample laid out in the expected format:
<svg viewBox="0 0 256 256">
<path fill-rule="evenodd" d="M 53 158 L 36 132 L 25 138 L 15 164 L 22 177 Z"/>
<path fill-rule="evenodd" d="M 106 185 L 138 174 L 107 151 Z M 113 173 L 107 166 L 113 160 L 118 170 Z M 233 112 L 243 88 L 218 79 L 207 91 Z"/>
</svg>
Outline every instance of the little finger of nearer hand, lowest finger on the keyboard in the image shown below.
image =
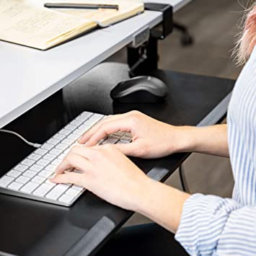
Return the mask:
<svg viewBox="0 0 256 256">
<path fill-rule="evenodd" d="M 56 175 L 53 179 L 50 179 L 50 182 L 54 183 L 71 183 L 79 185 L 81 187 L 86 187 L 87 179 L 84 175 L 77 172 L 68 172 L 61 175 Z"/>
</svg>

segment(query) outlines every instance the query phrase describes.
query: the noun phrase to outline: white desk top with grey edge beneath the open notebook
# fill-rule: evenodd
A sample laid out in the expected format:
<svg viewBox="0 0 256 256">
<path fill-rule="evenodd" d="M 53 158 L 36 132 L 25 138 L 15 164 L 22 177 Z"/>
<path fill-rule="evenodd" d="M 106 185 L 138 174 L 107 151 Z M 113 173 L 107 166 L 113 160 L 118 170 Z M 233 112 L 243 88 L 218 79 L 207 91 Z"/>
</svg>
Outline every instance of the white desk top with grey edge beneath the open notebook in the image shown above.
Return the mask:
<svg viewBox="0 0 256 256">
<path fill-rule="evenodd" d="M 190 0 L 149 1 L 177 10 Z M 161 21 L 160 12 L 144 12 L 46 51 L 0 41 L 0 128 L 131 43 L 142 27 Z"/>
</svg>

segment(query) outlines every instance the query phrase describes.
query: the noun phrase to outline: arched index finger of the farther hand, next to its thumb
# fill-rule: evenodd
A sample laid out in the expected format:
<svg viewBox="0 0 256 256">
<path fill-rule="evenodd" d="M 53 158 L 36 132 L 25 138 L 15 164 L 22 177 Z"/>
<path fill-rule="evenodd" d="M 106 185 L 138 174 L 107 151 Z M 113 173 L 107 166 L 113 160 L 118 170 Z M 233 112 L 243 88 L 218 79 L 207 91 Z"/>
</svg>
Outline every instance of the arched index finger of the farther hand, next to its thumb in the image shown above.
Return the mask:
<svg viewBox="0 0 256 256">
<path fill-rule="evenodd" d="M 120 118 L 118 120 L 108 121 L 99 126 L 97 131 L 91 134 L 91 136 L 87 140 L 87 146 L 96 145 L 102 138 L 110 135 L 111 133 L 116 133 L 118 131 L 131 131 L 131 125 L 127 118 Z"/>
</svg>

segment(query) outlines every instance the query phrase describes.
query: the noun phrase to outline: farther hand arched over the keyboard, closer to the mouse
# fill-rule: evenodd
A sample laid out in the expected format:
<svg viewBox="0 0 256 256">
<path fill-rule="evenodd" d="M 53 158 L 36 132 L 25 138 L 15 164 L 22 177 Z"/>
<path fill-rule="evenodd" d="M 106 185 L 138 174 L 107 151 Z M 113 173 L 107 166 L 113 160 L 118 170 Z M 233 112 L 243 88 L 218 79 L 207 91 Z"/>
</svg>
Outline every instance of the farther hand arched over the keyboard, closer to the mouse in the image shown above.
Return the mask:
<svg viewBox="0 0 256 256">
<path fill-rule="evenodd" d="M 131 133 L 130 144 L 115 144 L 123 154 L 141 158 L 157 158 L 180 149 L 180 128 L 150 118 L 138 111 L 112 115 L 94 125 L 79 138 L 80 144 L 94 146 L 102 138 L 118 131 Z"/>
</svg>

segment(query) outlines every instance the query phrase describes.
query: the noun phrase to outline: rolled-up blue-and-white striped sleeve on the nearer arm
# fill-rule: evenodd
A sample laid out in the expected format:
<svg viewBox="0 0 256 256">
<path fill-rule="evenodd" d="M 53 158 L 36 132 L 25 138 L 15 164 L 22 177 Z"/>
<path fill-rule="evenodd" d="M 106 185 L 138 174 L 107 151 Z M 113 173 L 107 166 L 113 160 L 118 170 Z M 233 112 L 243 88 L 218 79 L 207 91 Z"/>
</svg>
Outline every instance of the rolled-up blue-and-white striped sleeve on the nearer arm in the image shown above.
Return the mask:
<svg viewBox="0 0 256 256">
<path fill-rule="evenodd" d="M 215 195 L 191 195 L 175 239 L 190 255 L 256 255 L 256 206 Z"/>
</svg>

